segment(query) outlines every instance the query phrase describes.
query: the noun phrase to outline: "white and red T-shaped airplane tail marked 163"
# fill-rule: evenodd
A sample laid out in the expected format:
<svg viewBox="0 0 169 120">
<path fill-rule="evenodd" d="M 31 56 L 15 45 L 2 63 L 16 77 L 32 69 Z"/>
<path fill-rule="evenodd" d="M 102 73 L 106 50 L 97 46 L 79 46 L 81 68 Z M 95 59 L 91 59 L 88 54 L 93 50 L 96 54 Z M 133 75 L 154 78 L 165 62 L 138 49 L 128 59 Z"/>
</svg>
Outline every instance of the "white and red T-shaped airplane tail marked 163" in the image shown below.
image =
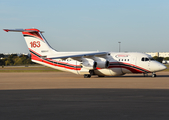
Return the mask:
<svg viewBox="0 0 169 120">
<path fill-rule="evenodd" d="M 36 53 L 39 56 L 47 56 L 56 53 L 38 29 L 4 29 L 8 32 L 22 32 L 30 53 Z"/>
</svg>

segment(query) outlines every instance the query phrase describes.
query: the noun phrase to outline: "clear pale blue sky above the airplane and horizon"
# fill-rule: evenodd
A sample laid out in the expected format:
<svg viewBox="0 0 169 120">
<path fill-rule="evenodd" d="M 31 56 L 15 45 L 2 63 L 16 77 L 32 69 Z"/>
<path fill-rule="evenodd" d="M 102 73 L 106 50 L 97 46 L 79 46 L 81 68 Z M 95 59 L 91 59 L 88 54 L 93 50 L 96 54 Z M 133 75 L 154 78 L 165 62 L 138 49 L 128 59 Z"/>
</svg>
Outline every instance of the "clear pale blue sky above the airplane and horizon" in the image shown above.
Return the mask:
<svg viewBox="0 0 169 120">
<path fill-rule="evenodd" d="M 0 53 L 28 53 L 37 28 L 58 51 L 169 52 L 169 0 L 0 0 Z"/>
</svg>

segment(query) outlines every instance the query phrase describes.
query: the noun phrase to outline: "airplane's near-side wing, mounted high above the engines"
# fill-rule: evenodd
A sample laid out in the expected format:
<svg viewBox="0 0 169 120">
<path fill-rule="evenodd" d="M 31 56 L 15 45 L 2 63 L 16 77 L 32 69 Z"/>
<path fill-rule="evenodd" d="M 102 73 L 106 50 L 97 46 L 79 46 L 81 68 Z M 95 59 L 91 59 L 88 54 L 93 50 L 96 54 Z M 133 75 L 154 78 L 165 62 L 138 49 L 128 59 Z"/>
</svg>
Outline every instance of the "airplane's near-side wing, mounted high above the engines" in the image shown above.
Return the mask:
<svg viewBox="0 0 169 120">
<path fill-rule="evenodd" d="M 74 60 L 80 61 L 81 58 L 92 58 L 92 57 L 105 57 L 108 52 L 92 52 L 92 53 L 80 53 L 80 54 L 69 54 L 69 55 L 56 55 L 56 57 L 49 57 L 50 59 L 67 59 L 72 58 Z"/>
</svg>

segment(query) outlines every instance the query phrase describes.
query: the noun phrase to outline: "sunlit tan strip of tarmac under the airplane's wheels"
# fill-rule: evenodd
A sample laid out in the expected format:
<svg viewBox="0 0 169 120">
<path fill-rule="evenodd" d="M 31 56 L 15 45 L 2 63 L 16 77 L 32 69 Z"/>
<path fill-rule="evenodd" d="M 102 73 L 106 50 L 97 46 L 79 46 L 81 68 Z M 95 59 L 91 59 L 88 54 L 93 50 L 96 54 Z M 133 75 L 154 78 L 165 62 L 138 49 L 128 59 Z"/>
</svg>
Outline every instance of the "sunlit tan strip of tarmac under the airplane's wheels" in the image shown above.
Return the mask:
<svg viewBox="0 0 169 120">
<path fill-rule="evenodd" d="M 20 89 L 169 89 L 169 72 L 83 78 L 68 72 L 0 73 L 0 90 Z"/>
</svg>

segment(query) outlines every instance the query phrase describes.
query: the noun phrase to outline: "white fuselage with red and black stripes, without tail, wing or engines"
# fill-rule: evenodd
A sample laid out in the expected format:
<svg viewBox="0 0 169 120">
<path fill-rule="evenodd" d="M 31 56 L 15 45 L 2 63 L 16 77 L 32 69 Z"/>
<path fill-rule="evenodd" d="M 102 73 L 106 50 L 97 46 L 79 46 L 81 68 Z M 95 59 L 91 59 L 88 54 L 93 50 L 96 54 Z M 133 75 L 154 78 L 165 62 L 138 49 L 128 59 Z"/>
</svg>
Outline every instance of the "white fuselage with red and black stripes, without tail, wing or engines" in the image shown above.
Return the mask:
<svg viewBox="0 0 169 120">
<path fill-rule="evenodd" d="M 71 55 L 80 53 L 81 52 L 59 52 L 59 54 L 62 55 L 63 54 Z M 85 59 L 83 62 L 79 62 L 71 58 L 65 60 L 50 59 L 50 57 L 54 58 L 55 56 L 58 56 L 58 54 L 47 56 L 47 59 L 43 58 L 41 58 L 41 60 L 33 59 L 33 61 L 45 66 L 52 67 L 54 69 L 69 71 L 79 75 L 90 74 L 89 71 L 92 69 L 95 74 L 100 76 L 119 76 L 124 75 L 126 73 L 152 73 L 166 69 L 166 67 L 163 64 L 153 60 L 152 57 L 144 53 L 137 52 L 125 52 L 125 53 L 109 52 L 109 53 L 110 55 L 107 56 L 109 66 L 107 68 L 97 67 L 96 69 L 93 69 L 92 65 L 90 66 L 90 63 L 93 63 L 93 60 L 90 58 L 83 58 Z M 104 61 L 104 59 L 102 59 L 101 61 Z"/>
</svg>

